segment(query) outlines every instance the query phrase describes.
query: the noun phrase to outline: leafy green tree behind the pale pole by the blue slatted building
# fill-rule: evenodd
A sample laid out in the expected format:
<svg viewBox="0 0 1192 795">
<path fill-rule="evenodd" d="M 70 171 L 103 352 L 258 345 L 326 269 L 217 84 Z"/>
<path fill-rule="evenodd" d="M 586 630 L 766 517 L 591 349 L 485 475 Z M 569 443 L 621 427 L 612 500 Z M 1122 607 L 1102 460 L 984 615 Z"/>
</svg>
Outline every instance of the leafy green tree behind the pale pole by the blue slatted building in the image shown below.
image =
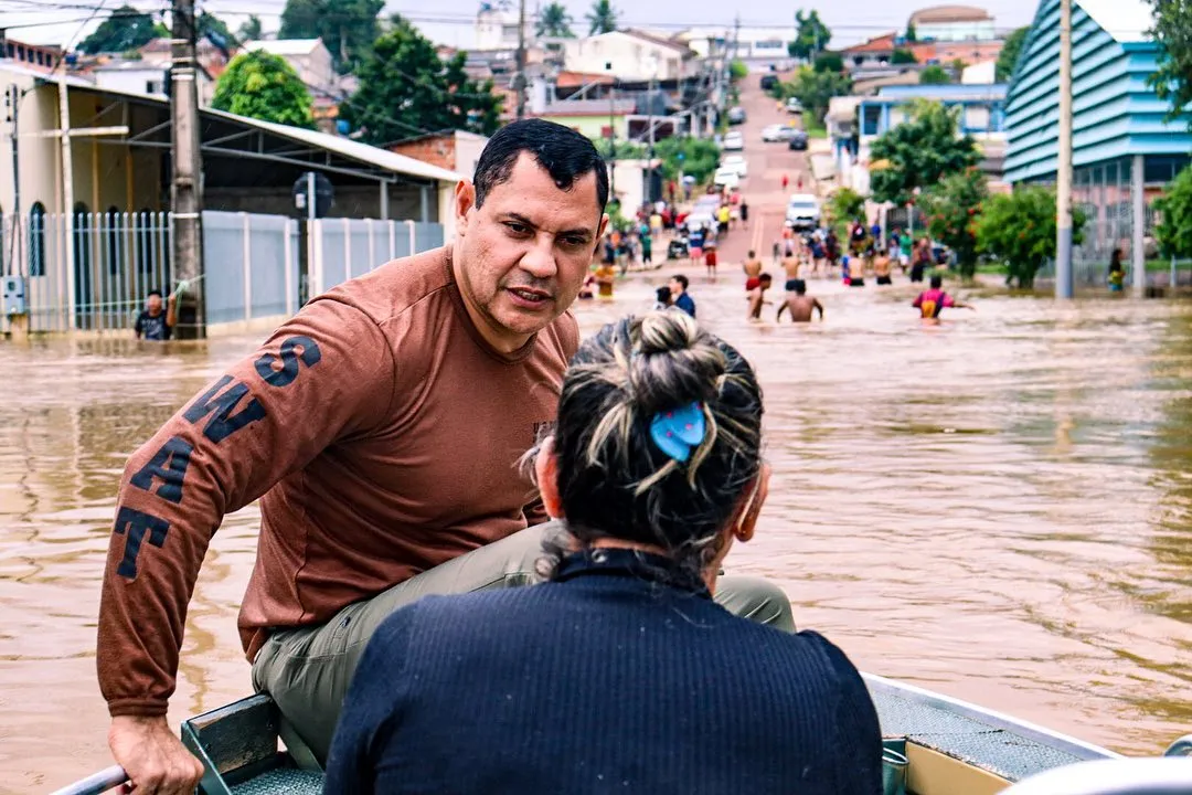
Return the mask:
<svg viewBox="0 0 1192 795">
<path fill-rule="evenodd" d="M 1072 242 L 1084 240 L 1085 213 L 1073 209 Z M 991 197 L 976 222 L 977 251 L 1001 262 L 1006 284 L 1029 290 L 1035 274 L 1055 256 L 1055 191 L 1024 187 Z"/>
</svg>

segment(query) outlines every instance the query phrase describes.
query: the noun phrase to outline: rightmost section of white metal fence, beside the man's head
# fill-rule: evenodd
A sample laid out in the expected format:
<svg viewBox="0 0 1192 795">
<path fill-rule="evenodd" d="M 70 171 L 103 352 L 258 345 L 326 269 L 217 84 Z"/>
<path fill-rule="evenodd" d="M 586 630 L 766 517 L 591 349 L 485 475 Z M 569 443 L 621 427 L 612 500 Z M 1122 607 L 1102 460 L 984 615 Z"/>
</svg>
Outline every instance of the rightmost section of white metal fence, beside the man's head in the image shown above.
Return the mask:
<svg viewBox="0 0 1192 795">
<path fill-rule="evenodd" d="M 441 224 L 371 218 L 321 218 L 311 229 L 310 294 L 418 251 L 443 244 Z"/>
</svg>

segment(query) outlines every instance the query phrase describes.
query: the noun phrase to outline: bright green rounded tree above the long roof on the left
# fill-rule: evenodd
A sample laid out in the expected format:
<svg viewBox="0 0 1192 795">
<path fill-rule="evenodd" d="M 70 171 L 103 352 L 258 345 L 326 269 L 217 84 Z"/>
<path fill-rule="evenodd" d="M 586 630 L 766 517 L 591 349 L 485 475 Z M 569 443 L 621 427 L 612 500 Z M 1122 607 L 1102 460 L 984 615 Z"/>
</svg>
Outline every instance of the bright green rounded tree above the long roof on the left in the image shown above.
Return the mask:
<svg viewBox="0 0 1192 795">
<path fill-rule="evenodd" d="M 211 98 L 217 111 L 306 129 L 315 128 L 313 105 L 293 67 L 261 50 L 232 58 Z"/>
</svg>

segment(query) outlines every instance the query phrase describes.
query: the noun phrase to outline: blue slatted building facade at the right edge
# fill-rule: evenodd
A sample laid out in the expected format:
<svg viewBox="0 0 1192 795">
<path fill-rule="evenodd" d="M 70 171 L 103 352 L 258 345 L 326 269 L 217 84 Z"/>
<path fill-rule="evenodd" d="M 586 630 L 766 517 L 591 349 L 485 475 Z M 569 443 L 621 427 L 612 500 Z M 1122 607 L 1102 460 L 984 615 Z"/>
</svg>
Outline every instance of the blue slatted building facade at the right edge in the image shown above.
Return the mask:
<svg viewBox="0 0 1192 795">
<path fill-rule="evenodd" d="M 1142 273 L 1150 204 L 1188 163 L 1192 133 L 1186 117 L 1166 119 L 1169 105 L 1147 85 L 1159 56 L 1149 5 L 1072 5 L 1073 204 L 1088 218 L 1074 257 L 1078 277 L 1097 282 L 1115 248 Z M 1042 0 L 1006 99 L 1007 182 L 1055 182 L 1058 75 L 1060 0 Z"/>
</svg>

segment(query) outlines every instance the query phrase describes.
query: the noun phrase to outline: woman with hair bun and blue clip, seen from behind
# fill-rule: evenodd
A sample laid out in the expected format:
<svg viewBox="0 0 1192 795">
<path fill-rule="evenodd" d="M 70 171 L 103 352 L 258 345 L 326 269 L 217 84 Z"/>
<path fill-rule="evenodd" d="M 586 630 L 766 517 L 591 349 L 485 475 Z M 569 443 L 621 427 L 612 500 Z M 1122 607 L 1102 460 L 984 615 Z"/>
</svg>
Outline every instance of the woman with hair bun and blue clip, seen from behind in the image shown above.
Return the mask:
<svg viewBox="0 0 1192 795">
<path fill-rule="evenodd" d="M 712 600 L 770 478 L 749 362 L 684 312 L 604 327 L 532 452 L 546 583 L 428 596 L 365 652 L 334 793 L 876 795 L 881 734 L 845 654 Z"/>
</svg>

